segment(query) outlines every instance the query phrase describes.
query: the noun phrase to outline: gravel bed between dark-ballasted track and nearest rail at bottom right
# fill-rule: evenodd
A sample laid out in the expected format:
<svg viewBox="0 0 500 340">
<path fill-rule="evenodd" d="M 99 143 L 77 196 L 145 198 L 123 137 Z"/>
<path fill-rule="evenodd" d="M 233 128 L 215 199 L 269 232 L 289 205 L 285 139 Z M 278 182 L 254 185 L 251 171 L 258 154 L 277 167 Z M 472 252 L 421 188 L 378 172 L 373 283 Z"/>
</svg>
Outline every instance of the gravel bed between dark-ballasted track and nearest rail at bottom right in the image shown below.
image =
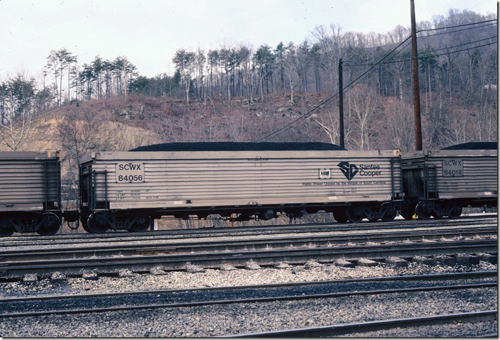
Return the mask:
<svg viewBox="0 0 500 340">
<path fill-rule="evenodd" d="M 2 319 L 2 336 L 223 336 L 496 309 L 496 288 Z M 403 336 L 405 334 L 402 334 Z M 441 336 L 448 336 L 442 333 Z"/>
</svg>

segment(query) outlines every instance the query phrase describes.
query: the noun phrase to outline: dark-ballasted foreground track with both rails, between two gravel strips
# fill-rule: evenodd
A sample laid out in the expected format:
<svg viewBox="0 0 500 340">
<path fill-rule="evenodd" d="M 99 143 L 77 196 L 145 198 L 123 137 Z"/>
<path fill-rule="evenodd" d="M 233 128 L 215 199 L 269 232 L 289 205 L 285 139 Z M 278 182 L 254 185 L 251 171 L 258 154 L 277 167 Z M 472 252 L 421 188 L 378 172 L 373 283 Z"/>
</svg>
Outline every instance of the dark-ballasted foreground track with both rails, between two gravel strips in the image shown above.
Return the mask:
<svg viewBox="0 0 500 340">
<path fill-rule="evenodd" d="M 136 309 L 200 307 L 237 303 L 436 292 L 439 290 L 482 289 L 497 287 L 496 275 L 496 271 L 481 271 L 275 285 L 109 292 L 88 295 L 4 297 L 0 300 L 0 307 L 3 310 L 0 313 L 0 319 L 40 317 L 51 314 L 120 312 Z M 149 303 L 145 304 L 145 302 Z"/>
</svg>

